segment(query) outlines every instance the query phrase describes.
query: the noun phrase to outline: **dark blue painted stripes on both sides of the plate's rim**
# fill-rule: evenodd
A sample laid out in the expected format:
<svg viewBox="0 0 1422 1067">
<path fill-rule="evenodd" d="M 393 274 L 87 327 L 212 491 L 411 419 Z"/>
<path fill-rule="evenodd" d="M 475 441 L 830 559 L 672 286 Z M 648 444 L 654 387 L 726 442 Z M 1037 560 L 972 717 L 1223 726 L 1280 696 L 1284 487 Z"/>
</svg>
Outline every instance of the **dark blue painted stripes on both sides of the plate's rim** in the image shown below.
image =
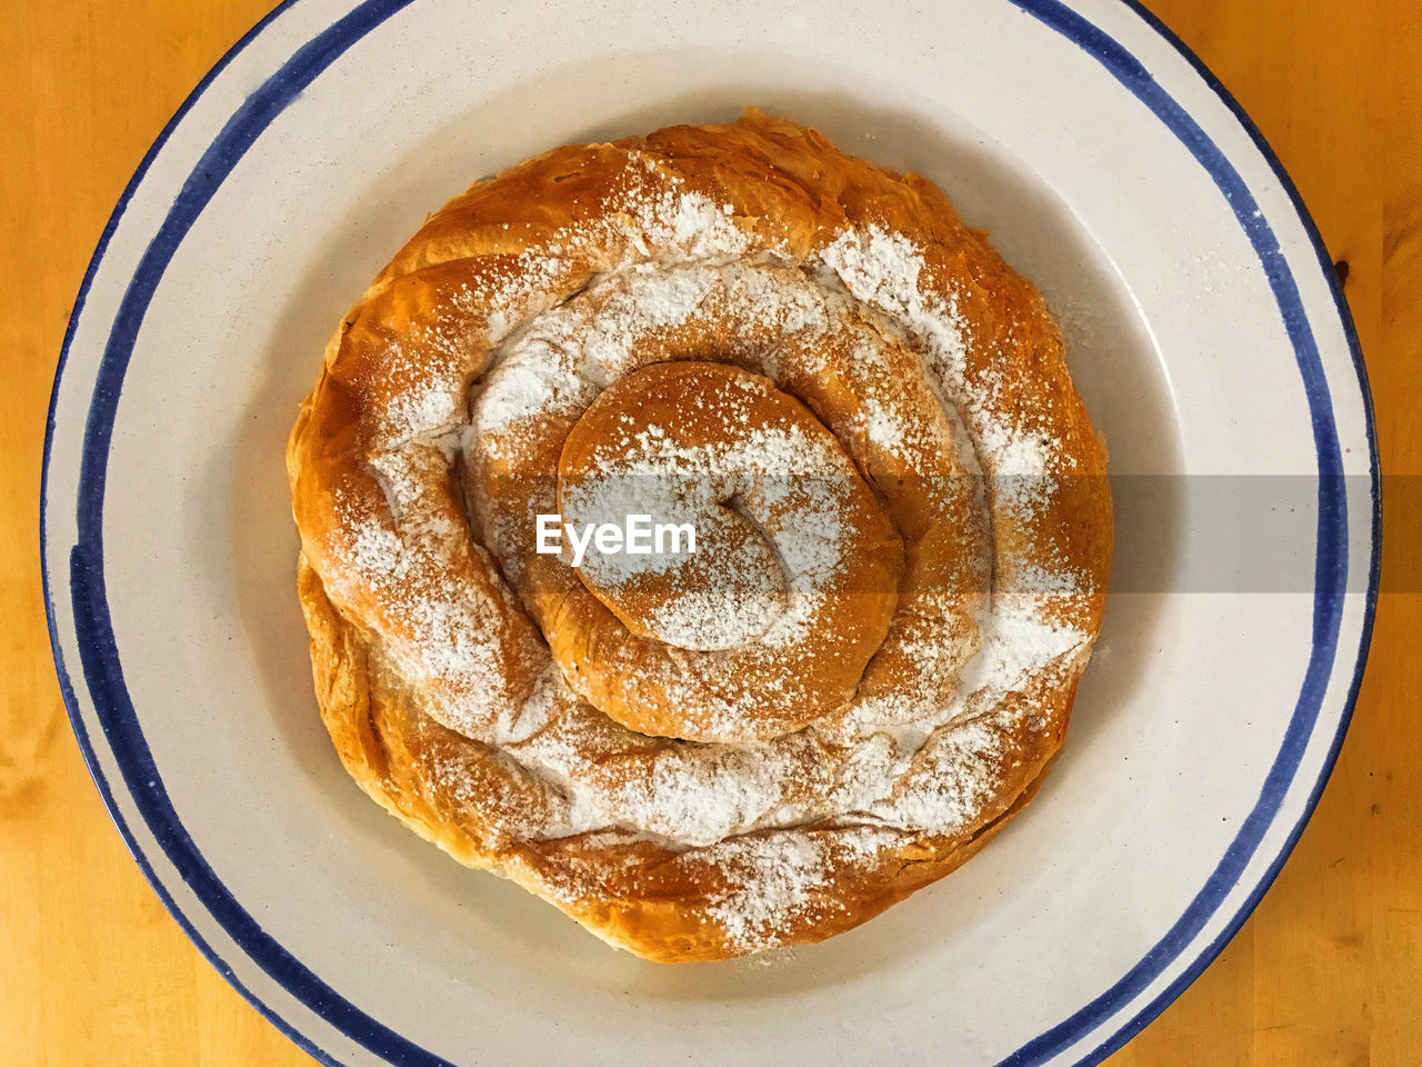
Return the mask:
<svg viewBox="0 0 1422 1067">
<path fill-rule="evenodd" d="M 287 0 L 287 3 L 290 1 L 292 0 Z M 161 780 L 156 774 L 156 768 L 154 767 L 152 754 L 142 737 L 137 714 L 134 713 L 132 704 L 128 699 L 127 689 L 122 684 L 122 671 L 114 643 L 108 605 L 104 598 L 102 573 L 102 497 L 112 420 L 117 411 L 127 363 L 132 356 L 134 340 L 138 336 L 138 329 L 142 323 L 144 313 L 146 312 L 148 302 L 156 290 L 168 260 L 172 258 L 183 235 L 196 221 L 198 215 L 216 193 L 222 181 L 242 158 L 246 149 L 262 134 L 266 125 L 347 48 L 407 3 L 410 3 L 410 0 L 367 0 L 297 50 L 297 53 L 293 54 L 293 57 L 283 64 L 283 67 L 256 92 L 253 92 L 252 97 L 249 97 L 247 101 L 245 101 L 245 104 L 228 121 L 222 132 L 203 154 L 198 166 L 193 168 L 193 172 L 185 182 L 178 201 L 173 203 L 172 211 L 146 249 L 141 265 L 129 283 L 129 289 L 125 293 L 119 313 L 115 317 L 114 330 L 109 336 L 104 360 L 100 367 L 98 381 L 85 428 L 78 502 L 78 543 L 71 552 L 71 596 L 74 599 L 74 617 L 80 657 L 84 664 L 85 680 L 88 681 L 91 697 L 94 699 L 95 714 L 104 726 L 105 736 L 114 750 L 115 761 L 124 774 L 135 807 L 138 807 L 139 812 L 144 815 L 149 829 L 154 832 L 155 839 L 164 848 L 175 869 L 179 871 L 198 898 L 203 902 L 209 912 L 212 912 L 213 918 L 223 926 L 229 936 L 233 938 L 235 943 L 242 947 L 253 959 L 253 962 L 262 966 L 267 975 L 277 980 L 296 999 L 307 1004 L 317 1016 L 346 1033 L 353 1040 L 397 1064 L 445 1064 L 445 1060 L 435 1057 L 432 1053 L 428 1053 L 407 1039 L 395 1034 L 388 1027 L 364 1014 L 354 1004 L 341 999 L 333 989 L 326 986 L 316 975 L 306 969 L 304 965 L 290 956 L 286 949 L 272 939 L 270 935 L 264 933 L 255 919 L 252 919 L 252 916 L 242 909 L 242 906 L 232 898 L 230 892 L 222 885 L 215 872 L 202 858 L 196 845 L 182 828 L 176 812 L 168 801 L 166 792 L 162 790 Z M 1027 1063 L 1039 1063 L 1042 1058 L 1051 1057 L 1058 1051 L 1071 1047 L 1105 1021 L 1111 1014 L 1129 1003 L 1132 997 L 1138 996 L 1156 976 L 1165 970 L 1166 966 L 1169 966 L 1169 963 L 1183 953 L 1204 922 L 1207 922 L 1214 911 L 1219 909 L 1224 896 L 1227 896 L 1227 893 L 1237 885 L 1239 878 L 1247 868 L 1249 859 L 1257 849 L 1263 834 L 1268 829 L 1273 817 L 1277 814 L 1277 809 L 1283 802 L 1283 798 L 1288 791 L 1288 785 L 1297 771 L 1303 751 L 1311 738 L 1311 731 L 1321 707 L 1324 690 L 1327 689 L 1327 683 L 1331 676 L 1332 659 L 1337 650 L 1338 632 L 1341 626 L 1342 590 L 1345 588 L 1348 559 L 1347 511 L 1345 501 L 1341 497 L 1342 465 L 1338 454 L 1332 411 L 1330 407 L 1327 378 L 1322 374 L 1321 360 L 1317 346 L 1314 344 L 1304 309 L 1300 303 L 1297 287 L 1294 286 L 1293 273 L 1288 270 L 1288 265 L 1280 252 L 1278 242 L 1274 238 L 1273 230 L 1268 228 L 1263 216 L 1254 213 L 1256 205 L 1243 179 L 1233 169 L 1233 166 L 1230 166 L 1219 148 L 1209 139 L 1199 125 L 1189 118 L 1183 108 L 1180 108 L 1179 104 L 1176 104 L 1175 100 L 1155 83 L 1149 71 L 1146 71 L 1146 68 L 1112 37 L 1092 26 L 1075 11 L 1066 9 L 1058 0 L 1010 0 L 1010 3 L 1014 3 L 1017 7 L 1038 18 L 1049 28 L 1064 34 L 1096 58 L 1109 73 L 1112 73 L 1113 77 L 1116 77 L 1118 81 L 1121 81 L 1122 85 L 1130 90 L 1138 100 L 1146 104 L 1146 107 L 1149 107 L 1152 112 L 1155 112 L 1156 117 L 1160 118 L 1177 138 L 1180 138 L 1196 159 L 1199 159 L 1199 162 L 1212 174 L 1221 192 L 1230 201 L 1230 206 L 1244 226 L 1250 242 L 1258 252 L 1270 283 L 1274 287 L 1276 297 L 1280 302 L 1280 312 L 1284 317 L 1285 330 L 1295 344 L 1295 354 L 1304 377 L 1305 396 L 1308 398 L 1310 413 L 1314 423 L 1315 447 L 1320 452 L 1320 545 L 1317 558 L 1318 590 L 1315 592 L 1314 607 L 1314 652 L 1303 684 L 1298 707 L 1295 707 L 1290 728 L 1285 733 L 1284 744 L 1280 748 L 1276 764 L 1270 771 L 1258 804 L 1241 827 L 1236 842 L 1231 844 L 1230 849 L 1226 852 L 1220 868 L 1214 872 L 1214 875 L 1212 875 L 1210 881 L 1206 882 L 1204 889 L 1202 889 L 1194 898 L 1190 908 L 1180 918 L 1180 920 L 1177 920 L 1175 928 L 1172 928 L 1170 933 L 1167 933 L 1166 938 L 1162 939 L 1162 942 L 1152 952 L 1149 952 L 1139 965 L 1136 965 L 1136 967 L 1128 972 L 1128 975 L 1118 982 L 1116 986 L 1086 1007 L 1081 1009 L 1071 1019 L 1058 1024 L 1004 1060 L 1004 1066 L 1011 1064 L 1012 1067 L 1020 1067 Z M 85 275 L 80 296 L 75 302 L 74 316 L 71 317 L 70 330 L 64 341 L 64 351 L 60 357 L 60 368 L 55 374 L 50 420 L 46 430 L 46 485 L 48 475 L 48 457 L 54 434 L 54 408 L 58 398 L 60 377 L 63 376 L 64 361 L 73 340 L 78 314 L 82 310 L 88 286 L 98 263 L 104 256 L 108 239 L 112 235 L 124 208 L 127 206 L 127 201 L 137 189 L 149 162 L 161 149 L 169 132 L 182 120 L 191 105 L 202 95 L 208 84 L 210 84 L 210 81 L 230 61 L 230 58 L 246 47 L 246 44 L 250 43 L 250 40 L 260 33 L 272 21 L 272 18 L 284 10 L 287 4 L 283 4 L 267 16 L 267 18 L 253 27 L 253 30 L 249 31 L 208 74 L 208 77 L 199 83 L 198 88 L 192 92 L 154 144 L 154 148 L 149 149 L 149 154 L 145 156 L 139 171 L 125 189 L 108 228 L 105 228 L 100 248 L 95 252 L 94 260 L 90 265 L 90 270 Z M 1136 4 L 1132 3 L 1132 7 L 1135 9 Z M 1138 13 L 1145 16 L 1145 13 L 1139 10 Z M 1263 138 L 1258 137 L 1257 131 L 1253 129 L 1247 118 L 1244 118 L 1243 112 L 1240 112 L 1239 105 L 1229 98 L 1213 75 L 1209 75 L 1207 71 L 1203 70 L 1199 60 L 1190 55 L 1189 51 L 1167 31 L 1165 31 L 1156 20 L 1145 17 L 1145 21 L 1153 30 L 1162 33 L 1162 36 L 1165 36 L 1170 44 L 1182 51 L 1192 65 L 1194 65 L 1204 75 L 1209 87 L 1214 90 L 1214 92 L 1220 95 L 1229 108 L 1240 118 L 1241 124 L 1250 132 L 1270 166 L 1273 166 L 1274 171 L 1284 178 L 1284 188 L 1293 198 L 1300 219 L 1304 222 L 1305 229 L 1320 250 L 1321 266 L 1327 269 L 1328 263 L 1322 253 L 1317 229 L 1308 219 L 1307 211 L 1298 201 L 1297 192 L 1287 181 L 1287 176 L 1283 175 L 1283 168 L 1278 165 L 1267 144 L 1263 142 Z M 1243 201 L 1237 196 L 1240 192 L 1243 193 Z M 1249 205 L 1247 215 L 1244 213 L 1243 203 Z M 1369 440 L 1374 495 L 1374 543 L 1369 570 L 1369 590 L 1364 619 L 1364 636 L 1359 647 L 1358 667 L 1354 674 L 1352 686 L 1348 691 L 1344 720 L 1325 760 L 1324 774 L 1320 777 L 1317 787 L 1308 798 L 1304 817 L 1294 828 L 1280 856 L 1266 872 L 1264 879 L 1256 888 L 1254 893 L 1241 911 L 1231 919 L 1226 932 L 1214 943 L 1212 943 L 1206 952 L 1186 970 L 1186 973 L 1172 983 L 1163 994 L 1142 1009 L 1106 1044 L 1095 1050 L 1088 1057 L 1089 1061 L 1096 1061 L 1112 1049 L 1119 1047 L 1119 1044 L 1145 1026 L 1145 1023 L 1149 1021 L 1149 1019 L 1152 1019 L 1165 1006 L 1165 1003 L 1169 1003 L 1169 1000 L 1173 999 L 1173 996 L 1176 996 L 1179 990 L 1189 983 L 1189 980 L 1203 970 L 1209 960 L 1213 959 L 1220 947 L 1223 947 L 1229 936 L 1234 932 L 1234 929 L 1237 929 L 1237 926 L 1257 903 L 1258 898 L 1263 895 L 1264 889 L 1267 889 L 1278 868 L 1287 858 L 1298 832 L 1303 829 L 1303 824 L 1307 821 L 1308 812 L 1313 811 L 1313 807 L 1317 802 L 1322 784 L 1327 781 L 1327 771 L 1332 767 L 1338 744 L 1342 738 L 1342 731 L 1347 727 L 1348 714 L 1351 713 L 1352 703 L 1357 697 L 1358 681 L 1368 647 L 1368 637 L 1371 635 L 1372 610 L 1376 600 L 1379 548 L 1376 445 L 1372 428 L 1371 396 L 1367 387 L 1361 353 L 1357 346 L 1357 336 L 1335 283 L 1332 285 L 1332 293 L 1334 300 L 1338 304 L 1344 330 L 1348 336 L 1355 366 L 1358 368 L 1358 380 L 1364 397 Z M 105 804 L 118 822 L 119 831 L 124 834 L 129 849 L 144 868 L 145 875 L 162 896 L 164 903 L 171 912 L 173 912 L 175 918 L 178 918 L 179 923 L 189 933 L 189 936 L 198 942 L 205 955 L 208 955 L 208 957 L 239 989 L 239 992 L 242 992 L 243 996 L 252 1000 L 266 1017 L 293 1037 L 293 1040 L 296 1040 L 303 1049 L 326 1063 L 334 1063 L 328 1054 L 319 1050 L 293 1026 L 277 1017 L 270 1009 L 262 1004 L 250 990 L 245 989 L 232 973 L 232 969 L 226 966 L 210 949 L 210 946 L 208 946 L 198 936 L 192 925 L 185 919 L 176 903 L 164 889 L 156 872 L 142 856 L 137 841 L 124 822 L 124 818 L 118 811 L 114 797 L 104 778 L 102 770 L 98 765 L 98 760 L 90 747 L 81 711 L 77 706 L 73 687 L 68 684 L 68 676 L 63 664 L 60 640 L 54 623 L 53 603 L 50 600 L 47 573 L 48 559 L 47 552 L 44 552 L 44 492 L 41 489 L 41 563 L 46 569 L 46 606 L 50 616 L 50 636 L 55 653 L 55 666 L 60 673 L 65 703 L 70 707 L 70 717 L 71 721 L 74 721 L 75 733 L 80 738 L 80 745 L 84 750 L 85 760 L 88 761 L 90 770 L 100 787 L 100 792 L 104 795 Z M 1308 704 L 1311 704 L 1311 707 Z M 1273 808 L 1270 809 L 1268 805 L 1273 805 Z"/>
</svg>

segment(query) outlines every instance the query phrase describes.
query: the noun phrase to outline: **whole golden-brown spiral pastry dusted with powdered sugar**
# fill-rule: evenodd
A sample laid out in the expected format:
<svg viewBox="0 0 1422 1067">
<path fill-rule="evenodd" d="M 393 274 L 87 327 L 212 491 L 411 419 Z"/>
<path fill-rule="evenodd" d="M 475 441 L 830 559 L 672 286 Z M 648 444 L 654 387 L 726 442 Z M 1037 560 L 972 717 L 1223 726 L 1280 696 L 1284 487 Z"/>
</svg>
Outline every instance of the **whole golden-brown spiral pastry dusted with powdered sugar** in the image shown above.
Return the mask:
<svg viewBox="0 0 1422 1067">
<path fill-rule="evenodd" d="M 656 960 L 820 940 L 971 856 L 1105 605 L 1105 451 L 1037 290 L 926 179 L 755 111 L 429 216 L 287 468 L 350 774 Z M 698 551 L 539 551 L 540 515 L 634 512 Z"/>
</svg>

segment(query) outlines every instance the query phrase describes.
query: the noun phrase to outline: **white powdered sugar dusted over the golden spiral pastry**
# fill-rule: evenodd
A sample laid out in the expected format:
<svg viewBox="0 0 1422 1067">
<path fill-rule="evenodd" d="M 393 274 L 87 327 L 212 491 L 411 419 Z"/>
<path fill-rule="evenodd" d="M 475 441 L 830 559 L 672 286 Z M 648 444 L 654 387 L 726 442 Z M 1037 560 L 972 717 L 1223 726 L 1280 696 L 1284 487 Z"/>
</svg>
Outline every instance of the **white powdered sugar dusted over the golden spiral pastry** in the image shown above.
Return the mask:
<svg viewBox="0 0 1422 1067">
<path fill-rule="evenodd" d="M 721 316 L 722 341 L 778 381 L 818 374 L 830 343 L 859 339 L 859 359 L 872 361 L 879 344 L 907 337 L 944 403 L 944 421 L 960 431 L 963 467 L 994 471 L 997 506 L 1041 508 L 1059 457 L 1051 440 L 984 403 L 981 383 L 970 387 L 967 322 L 951 293 L 924 285 L 923 252 L 906 236 L 846 229 L 796 263 L 784 249 L 758 248 L 728 205 L 697 192 L 629 193 L 614 208 L 560 233 L 552 253 L 526 253 L 498 310 L 469 327 L 475 336 L 452 327 L 438 334 L 451 366 L 466 346 L 489 353 L 468 396 L 451 390 L 438 367 L 421 378 L 392 354 L 410 387 L 388 403 L 384 450 L 371 460 L 390 514 L 337 499 L 344 541 L 331 551 L 370 586 L 371 610 L 400 622 L 381 639 L 381 663 L 419 683 L 438 721 L 496 747 L 522 775 L 523 802 L 542 805 L 538 817 L 501 814 L 501 825 L 545 839 L 616 829 L 665 844 L 683 861 L 724 874 L 728 891 L 710 916 L 727 938 L 748 950 L 769 947 L 788 922 L 828 906 L 820 891 L 836 871 L 889 848 L 900 831 L 951 835 L 978 824 L 998 795 L 1011 737 L 1031 713 L 1031 701 L 1024 711 L 1008 697 L 1089 649 L 1089 635 L 1052 623 L 1044 610 L 1049 598 L 1081 592 L 1071 575 L 1048 565 L 1012 572 L 1011 589 L 998 590 L 977 620 L 981 644 L 951 699 L 876 691 L 832 724 L 764 743 L 667 743 L 579 700 L 586 684 L 565 677 L 536 635 L 503 625 L 523 617 L 503 585 L 520 563 L 498 558 L 498 536 L 485 538 L 493 558 L 471 546 L 428 487 L 448 484 L 455 444 L 476 472 L 525 472 L 520 464 L 550 427 L 566 434 L 610 384 L 664 359 L 648 339 L 675 336 L 711 316 L 708 309 Z M 599 269 L 555 299 L 579 256 Z M 880 336 L 886 320 L 899 340 Z M 796 344 L 784 344 L 788 337 Z M 987 386 L 991 393 L 998 383 Z M 620 592 L 646 575 L 678 579 L 677 596 L 644 620 L 675 649 L 792 649 L 815 627 L 856 536 L 843 522 L 845 482 L 836 477 L 848 460 L 795 425 L 728 427 L 724 442 L 700 445 L 667 430 L 630 425 L 623 455 L 600 478 L 572 487 L 562 508 L 670 522 L 691 515 L 724 534 L 724 556 L 650 556 L 636 568 L 602 556 L 589 563 L 589 580 Z M 900 457 L 941 440 L 887 393 L 867 397 L 849 430 Z M 752 495 L 754 509 L 724 506 Z M 552 488 L 545 497 L 553 499 Z M 472 509 L 498 515 L 498 501 L 476 499 Z M 444 568 L 449 561 L 455 570 Z M 357 585 L 333 592 L 364 595 Z M 948 637 L 912 627 L 906 635 L 896 652 L 926 674 L 936 657 L 960 652 Z M 685 699 L 714 690 L 727 723 L 782 693 L 776 681 L 749 689 L 729 673 L 698 670 L 688 671 Z M 532 681 L 519 689 L 513 677 Z M 456 763 L 438 773 L 454 782 L 464 774 Z"/>
</svg>

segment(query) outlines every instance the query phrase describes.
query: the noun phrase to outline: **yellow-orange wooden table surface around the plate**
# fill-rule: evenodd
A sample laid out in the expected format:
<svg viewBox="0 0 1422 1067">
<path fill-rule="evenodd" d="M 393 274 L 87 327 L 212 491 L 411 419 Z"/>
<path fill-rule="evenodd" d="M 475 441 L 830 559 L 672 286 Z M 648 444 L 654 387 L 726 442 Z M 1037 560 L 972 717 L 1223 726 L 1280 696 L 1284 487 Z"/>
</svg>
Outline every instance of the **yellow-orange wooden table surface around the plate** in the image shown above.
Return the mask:
<svg viewBox="0 0 1422 1067">
<path fill-rule="evenodd" d="M 1422 475 L 1422 3 L 1150 6 L 1254 118 L 1347 262 L 1384 471 Z M 306 1064 L 124 851 L 70 734 L 37 566 L 46 403 L 90 253 L 154 137 L 270 0 L 0 7 L 0 1064 Z M 1385 585 L 1422 543 L 1415 508 L 1386 526 Z M 1422 1064 L 1419 693 L 1422 596 L 1389 592 L 1297 851 L 1113 1067 Z"/>
</svg>

